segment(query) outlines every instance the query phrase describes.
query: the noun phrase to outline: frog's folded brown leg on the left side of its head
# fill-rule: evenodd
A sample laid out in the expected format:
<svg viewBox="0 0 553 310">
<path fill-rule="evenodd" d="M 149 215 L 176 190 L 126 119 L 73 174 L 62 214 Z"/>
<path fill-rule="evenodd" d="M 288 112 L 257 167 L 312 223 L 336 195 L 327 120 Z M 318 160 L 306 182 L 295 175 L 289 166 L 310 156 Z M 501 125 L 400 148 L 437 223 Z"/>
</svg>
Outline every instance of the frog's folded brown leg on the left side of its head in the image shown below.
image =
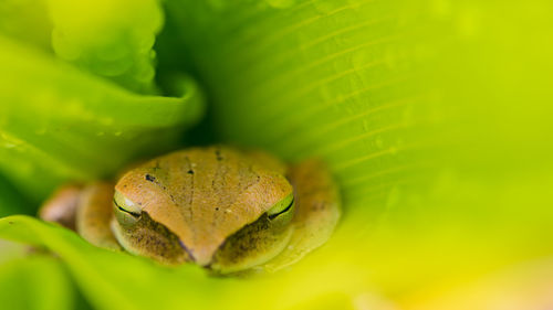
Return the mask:
<svg viewBox="0 0 553 310">
<path fill-rule="evenodd" d="M 109 227 L 113 194 L 114 185 L 108 182 L 64 185 L 43 204 L 39 216 L 76 231 L 95 246 L 121 249 Z"/>
</svg>

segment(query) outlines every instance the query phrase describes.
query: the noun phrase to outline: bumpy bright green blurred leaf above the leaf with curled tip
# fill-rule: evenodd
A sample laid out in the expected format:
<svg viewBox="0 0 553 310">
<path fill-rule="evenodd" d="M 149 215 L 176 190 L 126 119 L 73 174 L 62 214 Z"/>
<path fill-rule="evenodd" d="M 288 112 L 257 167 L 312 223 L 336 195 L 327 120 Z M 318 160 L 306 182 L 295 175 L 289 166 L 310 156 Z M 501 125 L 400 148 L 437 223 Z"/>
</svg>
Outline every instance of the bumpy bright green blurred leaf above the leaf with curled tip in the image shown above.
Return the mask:
<svg viewBox="0 0 553 310">
<path fill-rule="evenodd" d="M 48 0 L 52 44 L 63 60 L 139 92 L 154 92 L 157 0 Z"/>
</svg>

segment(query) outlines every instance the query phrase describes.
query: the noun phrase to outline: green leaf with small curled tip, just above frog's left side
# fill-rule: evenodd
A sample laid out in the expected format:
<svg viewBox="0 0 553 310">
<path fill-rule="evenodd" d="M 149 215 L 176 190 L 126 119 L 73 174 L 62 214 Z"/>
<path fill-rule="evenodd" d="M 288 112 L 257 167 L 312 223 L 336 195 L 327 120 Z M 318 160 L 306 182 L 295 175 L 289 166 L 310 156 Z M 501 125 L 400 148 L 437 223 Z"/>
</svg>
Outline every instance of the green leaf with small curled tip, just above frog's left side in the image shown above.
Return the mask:
<svg viewBox="0 0 553 310">
<path fill-rule="evenodd" d="M 0 45 L 0 169 L 35 200 L 178 145 L 202 114 L 191 79 L 179 82 L 180 98 L 139 96 L 8 39 Z"/>
</svg>

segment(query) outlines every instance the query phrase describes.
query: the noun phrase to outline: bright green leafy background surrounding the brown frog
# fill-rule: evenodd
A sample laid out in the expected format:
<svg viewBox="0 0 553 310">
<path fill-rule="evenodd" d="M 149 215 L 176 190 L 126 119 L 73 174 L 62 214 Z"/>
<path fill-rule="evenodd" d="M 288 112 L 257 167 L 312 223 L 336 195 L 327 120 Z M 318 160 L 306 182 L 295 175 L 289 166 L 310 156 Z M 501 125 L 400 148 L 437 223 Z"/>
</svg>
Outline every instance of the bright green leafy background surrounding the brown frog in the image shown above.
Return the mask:
<svg viewBox="0 0 553 310">
<path fill-rule="evenodd" d="M 528 309 L 534 299 L 510 301 L 530 293 L 522 287 L 553 287 L 540 278 L 553 266 L 550 2 L 31 2 L 0 3 L 1 215 L 33 214 L 62 182 L 182 146 L 202 97 L 181 72 L 209 104 L 192 141 L 321 157 L 344 214 L 320 250 L 248 279 L 167 269 L 8 217 L 0 236 L 59 258 L 1 245 L 13 255 L 3 255 L 0 290 L 19 290 L 2 300 Z M 44 278 L 56 293 L 33 285 Z"/>
</svg>

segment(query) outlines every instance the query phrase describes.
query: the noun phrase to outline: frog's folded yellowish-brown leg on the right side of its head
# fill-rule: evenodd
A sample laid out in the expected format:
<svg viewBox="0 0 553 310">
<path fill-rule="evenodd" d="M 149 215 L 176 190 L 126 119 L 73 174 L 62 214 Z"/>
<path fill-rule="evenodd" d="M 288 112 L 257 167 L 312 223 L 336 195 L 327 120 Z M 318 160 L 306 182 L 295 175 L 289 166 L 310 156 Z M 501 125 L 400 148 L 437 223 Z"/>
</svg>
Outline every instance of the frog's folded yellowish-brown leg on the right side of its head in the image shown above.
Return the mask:
<svg viewBox="0 0 553 310">
<path fill-rule="evenodd" d="M 340 215 L 341 199 L 328 169 L 320 160 L 306 160 L 289 169 L 296 210 L 290 243 L 275 258 L 261 266 L 275 271 L 300 260 L 332 235 Z"/>
</svg>

